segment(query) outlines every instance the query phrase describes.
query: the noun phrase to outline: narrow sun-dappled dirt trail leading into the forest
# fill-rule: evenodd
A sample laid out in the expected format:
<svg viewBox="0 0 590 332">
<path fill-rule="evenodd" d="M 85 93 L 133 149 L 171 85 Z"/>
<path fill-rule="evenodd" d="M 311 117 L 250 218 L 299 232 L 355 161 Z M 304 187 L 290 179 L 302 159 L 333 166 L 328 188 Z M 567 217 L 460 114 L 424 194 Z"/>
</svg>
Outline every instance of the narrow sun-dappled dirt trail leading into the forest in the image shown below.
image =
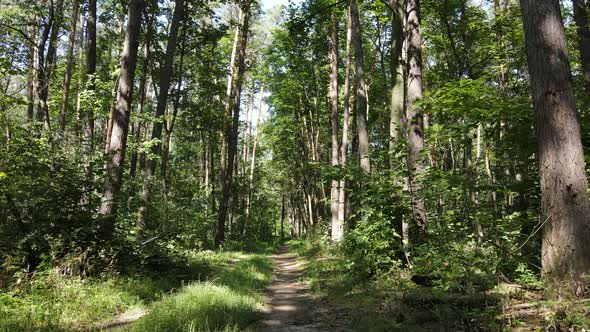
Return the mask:
<svg viewBox="0 0 590 332">
<path fill-rule="evenodd" d="M 272 258 L 277 269 L 268 287 L 262 331 L 347 331 L 338 315 L 314 300 L 309 287 L 298 281 L 305 266 L 289 254 L 287 246 Z"/>
</svg>

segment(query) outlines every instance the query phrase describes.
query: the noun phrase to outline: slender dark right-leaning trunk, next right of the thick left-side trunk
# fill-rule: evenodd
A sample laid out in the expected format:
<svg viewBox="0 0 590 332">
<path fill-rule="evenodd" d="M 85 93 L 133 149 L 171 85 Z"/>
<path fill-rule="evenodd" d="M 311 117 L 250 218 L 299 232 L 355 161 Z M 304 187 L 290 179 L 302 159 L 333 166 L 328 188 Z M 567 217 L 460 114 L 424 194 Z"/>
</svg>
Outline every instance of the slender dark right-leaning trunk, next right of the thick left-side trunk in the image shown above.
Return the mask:
<svg viewBox="0 0 590 332">
<path fill-rule="evenodd" d="M 168 90 L 170 89 L 170 80 L 172 78 L 174 53 L 176 52 L 178 30 L 180 22 L 184 15 L 184 0 L 176 0 L 174 5 L 174 14 L 172 15 L 172 23 L 170 24 L 170 34 L 168 36 L 168 44 L 166 46 L 166 60 L 162 71 L 160 72 L 160 93 L 158 95 L 158 103 L 156 105 L 156 119 L 161 119 L 166 112 L 168 104 Z M 154 122 L 152 128 L 152 140 L 160 140 L 162 138 L 162 122 Z M 153 156 L 159 156 L 161 151 L 161 143 L 156 143 L 151 148 Z M 140 232 L 145 229 L 145 221 L 147 217 L 148 204 L 151 198 L 152 181 L 156 174 L 156 160 L 148 159 L 145 168 L 145 178 L 143 183 L 143 190 L 141 193 L 140 206 L 137 217 L 137 227 Z"/>
</svg>

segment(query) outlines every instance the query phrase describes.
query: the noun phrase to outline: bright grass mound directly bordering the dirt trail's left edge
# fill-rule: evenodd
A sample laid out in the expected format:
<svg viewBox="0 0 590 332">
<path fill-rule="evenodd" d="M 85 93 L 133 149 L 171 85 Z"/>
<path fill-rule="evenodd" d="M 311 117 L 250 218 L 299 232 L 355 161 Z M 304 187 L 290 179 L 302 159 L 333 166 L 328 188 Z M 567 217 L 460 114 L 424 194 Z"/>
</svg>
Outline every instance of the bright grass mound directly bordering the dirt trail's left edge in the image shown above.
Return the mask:
<svg viewBox="0 0 590 332">
<path fill-rule="evenodd" d="M 213 262 L 214 277 L 156 303 L 132 331 L 243 331 L 260 317 L 260 291 L 272 277 L 267 257 L 201 252 L 193 259 Z"/>
</svg>

